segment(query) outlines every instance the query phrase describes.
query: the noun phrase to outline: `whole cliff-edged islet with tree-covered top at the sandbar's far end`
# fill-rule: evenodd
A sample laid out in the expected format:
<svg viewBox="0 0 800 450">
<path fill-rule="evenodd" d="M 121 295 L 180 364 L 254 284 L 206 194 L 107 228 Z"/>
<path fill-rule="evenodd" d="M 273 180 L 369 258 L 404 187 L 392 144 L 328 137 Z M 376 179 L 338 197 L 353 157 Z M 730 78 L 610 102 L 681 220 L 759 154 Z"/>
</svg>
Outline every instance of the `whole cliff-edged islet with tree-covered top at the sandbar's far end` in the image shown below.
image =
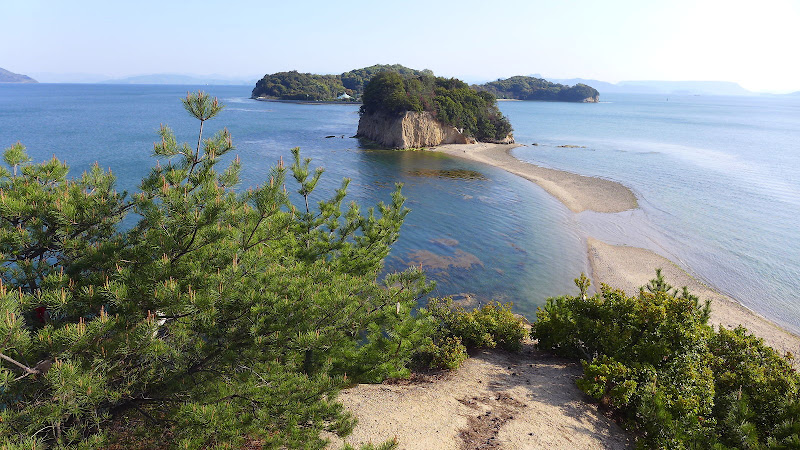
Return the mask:
<svg viewBox="0 0 800 450">
<path fill-rule="evenodd" d="M 381 72 L 362 101 L 356 136 L 387 147 L 514 142 L 494 96 L 455 78 Z"/>
</svg>

